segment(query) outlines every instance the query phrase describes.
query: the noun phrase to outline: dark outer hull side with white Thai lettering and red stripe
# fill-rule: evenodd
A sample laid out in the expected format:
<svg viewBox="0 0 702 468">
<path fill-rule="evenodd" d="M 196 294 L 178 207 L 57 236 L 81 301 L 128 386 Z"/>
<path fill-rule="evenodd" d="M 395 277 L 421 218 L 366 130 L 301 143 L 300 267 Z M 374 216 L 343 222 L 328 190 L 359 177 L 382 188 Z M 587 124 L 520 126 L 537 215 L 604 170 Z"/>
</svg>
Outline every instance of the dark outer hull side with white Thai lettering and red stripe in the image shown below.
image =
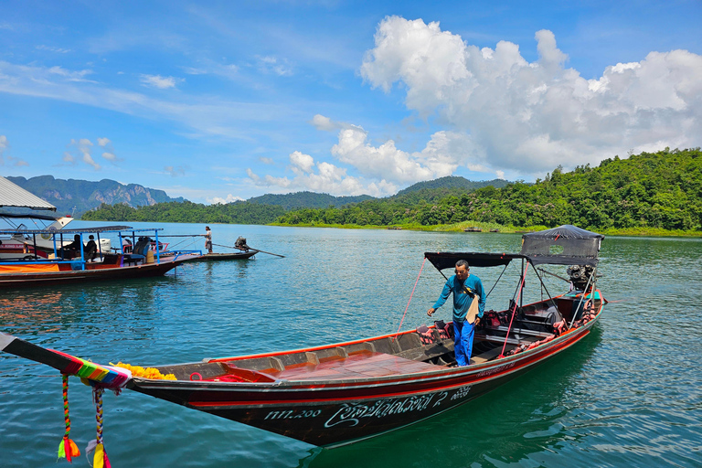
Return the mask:
<svg viewBox="0 0 702 468">
<path fill-rule="evenodd" d="M 318 381 L 133 378 L 128 388 L 313 445 L 344 445 L 413 424 L 484 395 L 580 341 L 590 333 L 599 312 L 595 320 L 542 346 L 470 367 L 432 366 L 436 370 Z M 168 367 L 159 368 L 169 371 Z"/>
</svg>

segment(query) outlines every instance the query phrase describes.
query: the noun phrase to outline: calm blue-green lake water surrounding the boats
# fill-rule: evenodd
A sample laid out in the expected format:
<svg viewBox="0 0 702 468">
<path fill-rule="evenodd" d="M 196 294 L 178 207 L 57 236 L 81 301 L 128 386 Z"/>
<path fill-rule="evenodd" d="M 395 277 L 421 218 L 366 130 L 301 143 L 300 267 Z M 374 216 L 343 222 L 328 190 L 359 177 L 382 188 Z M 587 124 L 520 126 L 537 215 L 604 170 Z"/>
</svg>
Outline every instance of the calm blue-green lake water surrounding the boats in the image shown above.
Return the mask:
<svg viewBox="0 0 702 468">
<path fill-rule="evenodd" d="M 130 224 L 167 234 L 205 230 Z M 285 258 L 258 254 L 186 264 L 164 278 L 0 292 L 0 330 L 95 362 L 143 366 L 323 345 L 395 332 L 424 251 L 514 252 L 521 241 L 488 233 L 211 227 L 215 244 L 244 236 Z M 191 245 L 187 239 L 178 247 Z M 136 392 L 109 392 L 104 441 L 112 466 L 702 466 L 702 239 L 607 238 L 601 257 L 599 286 L 611 303 L 593 333 L 457 410 L 321 450 Z M 564 267 L 547 269 L 565 275 Z M 487 308 L 506 308 L 517 270 L 505 272 Z M 472 273 L 489 289 L 501 271 Z M 403 329 L 429 323 L 426 310 L 443 282 L 427 262 Z M 564 285 L 547 283 L 550 293 Z M 527 300 L 540 293 L 527 276 Z M 449 319 L 451 311 L 436 316 Z M 95 409 L 77 378 L 70 378 L 69 402 L 71 438 L 84 452 L 95 437 Z M 64 432 L 58 371 L 0 354 L 0 421 L 0 466 L 57 466 Z M 84 454 L 73 466 L 88 466 Z"/>
</svg>

